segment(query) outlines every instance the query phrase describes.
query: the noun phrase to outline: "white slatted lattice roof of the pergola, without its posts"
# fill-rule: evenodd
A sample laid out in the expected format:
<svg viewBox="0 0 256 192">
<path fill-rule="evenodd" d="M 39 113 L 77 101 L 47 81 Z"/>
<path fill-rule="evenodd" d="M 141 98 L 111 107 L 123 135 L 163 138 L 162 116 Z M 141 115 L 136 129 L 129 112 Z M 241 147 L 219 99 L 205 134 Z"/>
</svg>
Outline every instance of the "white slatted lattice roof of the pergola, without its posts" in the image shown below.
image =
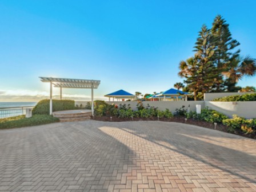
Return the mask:
<svg viewBox="0 0 256 192">
<path fill-rule="evenodd" d="M 63 88 L 81 88 L 81 89 L 97 89 L 101 81 L 87 80 L 87 79 L 67 79 L 67 78 L 53 78 L 53 77 L 39 77 L 42 82 L 51 82 L 54 87 Z"/>
</svg>

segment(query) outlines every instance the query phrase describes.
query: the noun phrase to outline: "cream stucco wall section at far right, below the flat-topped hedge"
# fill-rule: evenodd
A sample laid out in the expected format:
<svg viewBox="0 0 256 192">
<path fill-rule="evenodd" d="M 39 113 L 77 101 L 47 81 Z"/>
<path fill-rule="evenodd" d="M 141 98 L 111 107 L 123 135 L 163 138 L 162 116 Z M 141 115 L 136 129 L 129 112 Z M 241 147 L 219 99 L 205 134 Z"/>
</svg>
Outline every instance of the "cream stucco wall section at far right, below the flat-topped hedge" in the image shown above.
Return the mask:
<svg viewBox="0 0 256 192">
<path fill-rule="evenodd" d="M 245 118 L 256 118 L 256 101 L 218 102 L 205 101 L 205 107 L 219 111 L 229 117 L 236 114 Z"/>
</svg>

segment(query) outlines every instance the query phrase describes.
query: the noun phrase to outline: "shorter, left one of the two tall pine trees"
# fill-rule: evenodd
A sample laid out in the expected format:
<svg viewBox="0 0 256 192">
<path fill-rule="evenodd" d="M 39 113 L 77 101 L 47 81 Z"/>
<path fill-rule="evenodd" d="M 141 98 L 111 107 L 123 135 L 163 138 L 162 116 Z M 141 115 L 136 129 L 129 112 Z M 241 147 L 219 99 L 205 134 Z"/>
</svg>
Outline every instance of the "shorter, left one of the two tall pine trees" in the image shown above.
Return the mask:
<svg viewBox="0 0 256 192">
<path fill-rule="evenodd" d="M 213 87 L 216 78 L 216 67 L 214 66 L 214 44 L 213 36 L 205 25 L 195 43 L 194 57 L 181 61 L 179 75 L 186 78 L 187 87 L 194 93 L 194 99 L 197 100 L 199 93 L 206 93 Z"/>
</svg>

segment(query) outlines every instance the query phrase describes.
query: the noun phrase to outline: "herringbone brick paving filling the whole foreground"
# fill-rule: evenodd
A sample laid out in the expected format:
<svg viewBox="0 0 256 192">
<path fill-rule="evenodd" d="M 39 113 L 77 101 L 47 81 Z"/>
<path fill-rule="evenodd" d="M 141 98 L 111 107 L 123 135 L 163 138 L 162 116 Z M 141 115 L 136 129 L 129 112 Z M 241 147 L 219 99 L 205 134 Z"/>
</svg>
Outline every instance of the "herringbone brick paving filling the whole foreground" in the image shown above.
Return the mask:
<svg viewBox="0 0 256 192">
<path fill-rule="evenodd" d="M 0 130 L 0 191 L 256 191 L 256 141 L 168 122 Z"/>
</svg>

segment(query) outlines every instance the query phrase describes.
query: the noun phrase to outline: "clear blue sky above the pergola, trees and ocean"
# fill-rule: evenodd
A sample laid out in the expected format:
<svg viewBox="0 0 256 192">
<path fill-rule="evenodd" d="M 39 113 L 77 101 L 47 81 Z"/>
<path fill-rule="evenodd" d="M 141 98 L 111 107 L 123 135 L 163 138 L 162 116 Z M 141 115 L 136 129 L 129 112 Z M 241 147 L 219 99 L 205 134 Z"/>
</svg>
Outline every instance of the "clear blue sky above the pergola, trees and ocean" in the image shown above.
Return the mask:
<svg viewBox="0 0 256 192">
<path fill-rule="evenodd" d="M 37 100 L 43 77 L 101 80 L 100 98 L 124 89 L 165 91 L 193 55 L 203 24 L 230 24 L 242 55 L 256 58 L 256 1 L 0 1 L 0 101 Z M 256 77 L 240 86 L 256 86 Z M 58 90 L 55 90 L 58 94 Z M 64 94 L 90 95 L 66 89 Z M 17 97 L 14 97 L 17 95 Z"/>
</svg>

